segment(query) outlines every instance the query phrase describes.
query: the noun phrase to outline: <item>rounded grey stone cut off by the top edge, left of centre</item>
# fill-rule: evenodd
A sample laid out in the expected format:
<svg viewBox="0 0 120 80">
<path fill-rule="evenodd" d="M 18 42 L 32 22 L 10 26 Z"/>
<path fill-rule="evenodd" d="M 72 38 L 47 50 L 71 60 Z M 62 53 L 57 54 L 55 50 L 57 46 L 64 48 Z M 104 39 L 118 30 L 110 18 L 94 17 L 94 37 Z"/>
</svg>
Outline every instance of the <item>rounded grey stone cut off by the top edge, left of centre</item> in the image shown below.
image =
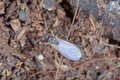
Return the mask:
<svg viewBox="0 0 120 80">
<path fill-rule="evenodd" d="M 42 0 L 41 6 L 48 11 L 55 9 L 55 0 Z"/>
</svg>

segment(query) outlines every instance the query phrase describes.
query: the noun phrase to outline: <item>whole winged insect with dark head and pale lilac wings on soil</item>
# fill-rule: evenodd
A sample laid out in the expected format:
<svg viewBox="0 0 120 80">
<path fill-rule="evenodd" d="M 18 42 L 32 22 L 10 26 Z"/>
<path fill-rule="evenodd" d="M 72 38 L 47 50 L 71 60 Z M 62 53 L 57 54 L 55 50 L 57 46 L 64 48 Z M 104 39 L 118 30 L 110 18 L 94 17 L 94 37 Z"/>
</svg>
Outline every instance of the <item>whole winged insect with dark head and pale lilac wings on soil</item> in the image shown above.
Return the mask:
<svg viewBox="0 0 120 80">
<path fill-rule="evenodd" d="M 50 34 L 45 35 L 45 39 L 52 47 L 57 49 L 65 58 L 72 61 L 78 61 L 81 58 L 81 50 L 73 43 L 53 37 Z"/>
</svg>

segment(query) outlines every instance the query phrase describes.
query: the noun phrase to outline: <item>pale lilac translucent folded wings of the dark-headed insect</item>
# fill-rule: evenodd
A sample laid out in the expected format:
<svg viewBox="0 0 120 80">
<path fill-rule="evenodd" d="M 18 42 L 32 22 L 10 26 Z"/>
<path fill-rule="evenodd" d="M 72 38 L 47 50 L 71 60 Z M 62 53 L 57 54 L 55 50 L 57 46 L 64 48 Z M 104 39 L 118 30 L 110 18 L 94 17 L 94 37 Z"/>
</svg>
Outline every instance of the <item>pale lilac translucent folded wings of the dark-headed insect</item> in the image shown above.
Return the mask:
<svg viewBox="0 0 120 80">
<path fill-rule="evenodd" d="M 80 49 L 70 42 L 60 40 L 57 49 L 67 59 L 78 61 L 81 58 Z"/>
</svg>

